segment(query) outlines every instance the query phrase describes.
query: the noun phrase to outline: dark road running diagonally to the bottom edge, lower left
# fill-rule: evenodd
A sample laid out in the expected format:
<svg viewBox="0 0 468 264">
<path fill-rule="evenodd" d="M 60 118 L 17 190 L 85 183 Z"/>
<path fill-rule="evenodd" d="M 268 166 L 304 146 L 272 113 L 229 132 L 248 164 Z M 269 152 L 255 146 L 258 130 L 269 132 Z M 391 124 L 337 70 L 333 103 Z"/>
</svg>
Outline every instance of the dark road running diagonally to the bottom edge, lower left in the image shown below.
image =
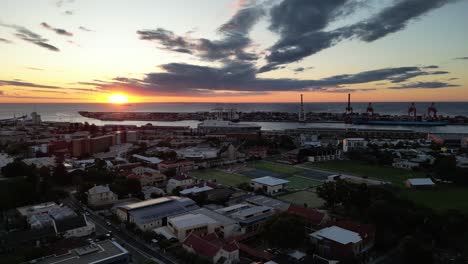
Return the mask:
<svg viewBox="0 0 468 264">
<path fill-rule="evenodd" d="M 80 212 L 85 211 L 81 204 L 74 198 L 67 198 L 64 200 L 64 203 Z M 151 248 L 144 242 L 135 239 L 132 235 L 127 234 L 125 231 L 119 231 L 113 225 L 108 226 L 106 224 L 107 220 L 105 220 L 100 215 L 92 212 L 91 210 L 87 210 L 87 212 L 89 212 L 87 217 L 91 219 L 96 225 L 96 231 L 104 234 L 112 231 L 112 235 L 117 240 L 117 242 L 122 244 L 132 254 L 134 262 L 143 263 L 145 260 L 152 260 L 160 264 L 176 264 L 176 262 L 156 251 L 156 249 Z"/>
</svg>

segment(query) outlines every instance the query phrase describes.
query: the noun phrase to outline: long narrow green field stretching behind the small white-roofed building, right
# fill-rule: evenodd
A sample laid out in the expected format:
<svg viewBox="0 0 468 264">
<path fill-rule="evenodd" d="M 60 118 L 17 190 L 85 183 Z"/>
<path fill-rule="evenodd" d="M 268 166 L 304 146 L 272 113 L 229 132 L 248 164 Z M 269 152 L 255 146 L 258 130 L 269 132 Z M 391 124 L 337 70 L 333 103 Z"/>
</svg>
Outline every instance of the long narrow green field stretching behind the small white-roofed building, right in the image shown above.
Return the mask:
<svg viewBox="0 0 468 264">
<path fill-rule="evenodd" d="M 396 186 L 403 186 L 404 181 L 408 178 L 426 177 L 424 173 L 421 173 L 421 172 L 396 169 L 393 167 L 370 165 L 365 162 L 350 161 L 350 160 L 306 163 L 305 165 L 311 168 L 319 168 L 319 169 L 324 169 L 324 170 L 341 172 L 344 174 L 351 174 L 351 175 L 356 175 L 356 176 L 389 181 L 395 184 Z"/>
</svg>

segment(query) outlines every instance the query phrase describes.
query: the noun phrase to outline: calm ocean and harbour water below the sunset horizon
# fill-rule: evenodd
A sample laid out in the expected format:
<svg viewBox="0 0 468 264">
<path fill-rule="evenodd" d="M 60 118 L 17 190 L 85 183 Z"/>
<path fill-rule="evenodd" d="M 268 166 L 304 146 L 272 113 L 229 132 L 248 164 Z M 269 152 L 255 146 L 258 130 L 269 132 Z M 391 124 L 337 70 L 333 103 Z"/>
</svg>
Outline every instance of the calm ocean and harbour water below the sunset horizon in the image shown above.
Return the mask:
<svg viewBox="0 0 468 264">
<path fill-rule="evenodd" d="M 365 102 L 352 103 L 355 112 L 365 112 L 367 108 Z M 418 102 L 416 108 L 418 114 L 427 112 L 427 107 L 431 102 Z M 403 115 L 407 113 L 409 103 L 407 102 L 377 102 L 373 103 L 375 112 L 381 114 Z M 144 125 L 152 123 L 154 125 L 183 125 L 196 127 L 199 121 L 178 121 L 178 122 L 145 122 L 145 121 L 100 121 L 80 116 L 78 111 L 132 111 L 132 112 L 196 112 L 211 111 L 215 108 L 231 109 L 236 108 L 242 112 L 251 111 L 279 111 L 279 112 L 299 112 L 299 103 L 138 103 L 130 105 L 98 104 L 98 103 L 41 103 L 41 104 L 0 104 L 0 119 L 12 118 L 14 116 L 29 115 L 37 112 L 44 121 L 62 122 L 88 122 L 90 124 L 128 124 Z M 345 102 L 332 103 L 304 103 L 306 112 L 329 112 L 342 113 L 346 107 Z M 438 102 L 436 107 L 438 114 L 448 116 L 468 116 L 468 102 Z M 402 127 L 402 126 L 365 126 L 351 125 L 343 123 L 294 123 L 294 122 L 257 122 L 264 130 L 287 129 L 297 127 L 359 127 L 359 128 L 384 128 L 384 129 L 412 129 L 414 131 L 432 133 L 468 133 L 468 126 L 443 126 L 443 127 Z"/>
</svg>

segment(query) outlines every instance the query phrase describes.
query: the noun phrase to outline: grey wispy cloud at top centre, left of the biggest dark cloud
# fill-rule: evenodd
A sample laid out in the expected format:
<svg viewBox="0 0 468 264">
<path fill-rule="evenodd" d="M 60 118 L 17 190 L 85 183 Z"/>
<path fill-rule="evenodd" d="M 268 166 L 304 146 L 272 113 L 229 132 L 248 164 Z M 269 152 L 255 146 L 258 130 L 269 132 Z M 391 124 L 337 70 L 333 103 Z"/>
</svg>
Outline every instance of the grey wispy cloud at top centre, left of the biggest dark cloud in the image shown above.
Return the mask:
<svg viewBox="0 0 468 264">
<path fill-rule="evenodd" d="M 264 12 L 262 6 L 244 5 L 228 22 L 219 27 L 218 32 L 222 35 L 220 40 L 179 36 L 163 28 L 139 30 L 137 34 L 140 39 L 153 41 L 160 48 L 192 54 L 205 60 L 252 61 L 258 55 L 246 51 L 251 45 L 248 33 Z"/>
</svg>

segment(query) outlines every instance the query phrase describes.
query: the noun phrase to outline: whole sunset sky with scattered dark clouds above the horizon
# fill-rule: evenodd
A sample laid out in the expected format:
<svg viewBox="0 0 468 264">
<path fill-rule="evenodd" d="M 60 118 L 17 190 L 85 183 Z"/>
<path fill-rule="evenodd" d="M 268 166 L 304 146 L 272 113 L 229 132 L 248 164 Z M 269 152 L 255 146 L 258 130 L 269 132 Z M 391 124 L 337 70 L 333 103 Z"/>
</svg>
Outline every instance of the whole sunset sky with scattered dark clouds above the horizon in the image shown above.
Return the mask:
<svg viewBox="0 0 468 264">
<path fill-rule="evenodd" d="M 0 0 L 0 103 L 468 101 L 468 0 Z"/>
</svg>

